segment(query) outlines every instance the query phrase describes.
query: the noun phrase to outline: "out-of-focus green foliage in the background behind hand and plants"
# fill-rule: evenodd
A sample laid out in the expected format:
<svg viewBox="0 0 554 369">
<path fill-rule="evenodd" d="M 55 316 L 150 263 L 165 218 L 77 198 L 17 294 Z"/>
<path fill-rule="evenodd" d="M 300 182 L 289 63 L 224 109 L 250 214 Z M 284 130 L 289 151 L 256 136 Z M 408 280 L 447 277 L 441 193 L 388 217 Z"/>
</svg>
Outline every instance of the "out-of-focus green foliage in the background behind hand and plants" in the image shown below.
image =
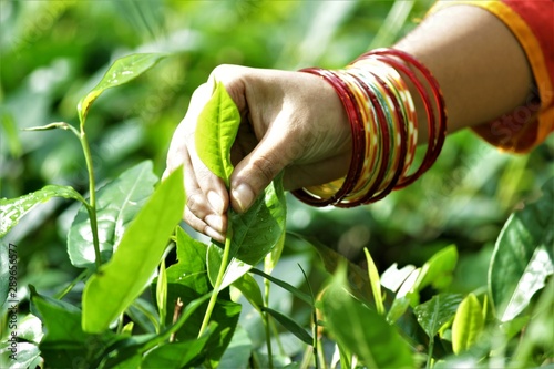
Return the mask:
<svg viewBox="0 0 554 369">
<path fill-rule="evenodd" d="M 417 1 L 0 1 L 0 197 L 45 184 L 86 191 L 79 142 L 62 131 L 21 129 L 76 123 L 76 103 L 116 58 L 175 52 L 129 85 L 107 91 L 89 114 L 100 185 L 145 158 L 164 170 L 173 130 L 194 89 L 218 64 L 294 70 L 338 68 L 369 48 L 391 45 L 430 8 Z M 289 199 L 288 228 L 382 271 L 423 264 L 459 245 L 455 284 L 484 284 L 502 225 L 554 173 L 554 140 L 529 155 L 497 152 L 471 132 L 447 140 L 434 167 L 410 187 L 356 209 L 315 209 Z M 20 284 L 54 288 L 76 273 L 65 235 L 76 212 L 53 201 L 7 237 L 18 244 Z M 60 216 L 60 217 L 59 217 Z M 293 245 L 294 246 L 294 245 Z M 294 247 L 290 250 L 294 250 Z M 278 271 L 277 271 L 278 273 Z"/>
</svg>

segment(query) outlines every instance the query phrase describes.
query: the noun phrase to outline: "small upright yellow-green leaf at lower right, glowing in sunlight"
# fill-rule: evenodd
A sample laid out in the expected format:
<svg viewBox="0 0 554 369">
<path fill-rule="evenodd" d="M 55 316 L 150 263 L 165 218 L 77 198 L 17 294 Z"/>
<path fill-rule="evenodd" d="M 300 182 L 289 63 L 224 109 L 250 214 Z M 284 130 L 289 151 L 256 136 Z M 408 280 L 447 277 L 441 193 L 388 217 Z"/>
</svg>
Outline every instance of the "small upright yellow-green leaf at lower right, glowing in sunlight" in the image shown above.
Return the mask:
<svg viewBox="0 0 554 369">
<path fill-rule="evenodd" d="M 458 307 L 452 322 L 452 349 L 454 353 L 468 350 L 483 331 L 481 304 L 475 295 L 468 295 Z"/>
</svg>

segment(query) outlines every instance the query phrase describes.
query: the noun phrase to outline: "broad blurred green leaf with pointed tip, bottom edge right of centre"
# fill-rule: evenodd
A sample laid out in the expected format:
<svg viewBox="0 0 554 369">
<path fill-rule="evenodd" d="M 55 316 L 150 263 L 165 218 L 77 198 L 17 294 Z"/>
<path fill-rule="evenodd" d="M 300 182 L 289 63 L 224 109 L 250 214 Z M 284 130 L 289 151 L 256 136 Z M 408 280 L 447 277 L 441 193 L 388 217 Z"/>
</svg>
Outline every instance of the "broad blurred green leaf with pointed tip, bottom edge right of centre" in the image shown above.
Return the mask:
<svg viewBox="0 0 554 369">
<path fill-rule="evenodd" d="M 346 278 L 342 267 L 322 296 L 324 321 L 329 334 L 369 368 L 413 368 L 408 344 L 384 317 L 347 293 Z"/>
</svg>

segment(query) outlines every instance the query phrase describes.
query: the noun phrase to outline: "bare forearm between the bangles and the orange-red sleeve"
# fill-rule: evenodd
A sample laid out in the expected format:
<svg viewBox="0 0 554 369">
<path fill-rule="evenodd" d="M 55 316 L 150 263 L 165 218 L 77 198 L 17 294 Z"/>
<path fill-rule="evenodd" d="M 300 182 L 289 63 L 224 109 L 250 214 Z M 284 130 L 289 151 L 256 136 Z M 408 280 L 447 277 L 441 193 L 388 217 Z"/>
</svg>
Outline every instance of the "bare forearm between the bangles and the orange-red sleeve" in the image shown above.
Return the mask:
<svg viewBox="0 0 554 369">
<path fill-rule="evenodd" d="M 449 132 L 492 121 L 525 104 L 533 78 L 525 53 L 495 16 L 470 6 L 432 14 L 396 48 L 420 60 L 438 80 L 448 110 Z M 412 96 L 420 122 L 427 117 Z M 420 124 L 419 137 L 427 137 Z M 421 140 L 420 139 L 420 140 Z"/>
</svg>

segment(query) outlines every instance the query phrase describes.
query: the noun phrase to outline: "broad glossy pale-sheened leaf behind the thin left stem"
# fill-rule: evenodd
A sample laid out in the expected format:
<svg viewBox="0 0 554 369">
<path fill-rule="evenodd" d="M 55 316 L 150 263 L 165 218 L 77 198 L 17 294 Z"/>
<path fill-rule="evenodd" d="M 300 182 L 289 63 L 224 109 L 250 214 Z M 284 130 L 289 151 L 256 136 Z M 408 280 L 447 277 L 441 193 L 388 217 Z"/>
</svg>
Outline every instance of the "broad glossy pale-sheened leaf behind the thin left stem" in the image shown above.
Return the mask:
<svg viewBox="0 0 554 369">
<path fill-rule="evenodd" d="M 154 192 L 157 177 L 146 161 L 123 172 L 96 193 L 96 218 L 102 262 L 107 262 L 131 221 Z M 81 207 L 68 234 L 68 253 L 76 267 L 95 266 L 91 221 Z"/>
</svg>

